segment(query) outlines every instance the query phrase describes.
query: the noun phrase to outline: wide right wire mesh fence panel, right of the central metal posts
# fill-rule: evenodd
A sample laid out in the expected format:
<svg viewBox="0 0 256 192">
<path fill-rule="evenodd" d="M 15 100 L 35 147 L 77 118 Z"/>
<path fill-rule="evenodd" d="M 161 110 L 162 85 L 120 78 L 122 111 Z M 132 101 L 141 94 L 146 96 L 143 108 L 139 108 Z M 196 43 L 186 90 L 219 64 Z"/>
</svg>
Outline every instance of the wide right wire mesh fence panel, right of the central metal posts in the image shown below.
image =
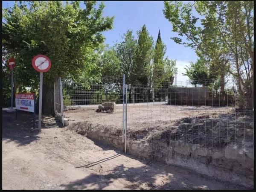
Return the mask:
<svg viewBox="0 0 256 192">
<path fill-rule="evenodd" d="M 245 173 L 253 168 L 252 94 L 253 88 L 213 80 L 129 85 L 127 137 L 140 146 L 131 151 L 163 161 L 194 157 L 226 168 L 242 163 Z"/>
</svg>

